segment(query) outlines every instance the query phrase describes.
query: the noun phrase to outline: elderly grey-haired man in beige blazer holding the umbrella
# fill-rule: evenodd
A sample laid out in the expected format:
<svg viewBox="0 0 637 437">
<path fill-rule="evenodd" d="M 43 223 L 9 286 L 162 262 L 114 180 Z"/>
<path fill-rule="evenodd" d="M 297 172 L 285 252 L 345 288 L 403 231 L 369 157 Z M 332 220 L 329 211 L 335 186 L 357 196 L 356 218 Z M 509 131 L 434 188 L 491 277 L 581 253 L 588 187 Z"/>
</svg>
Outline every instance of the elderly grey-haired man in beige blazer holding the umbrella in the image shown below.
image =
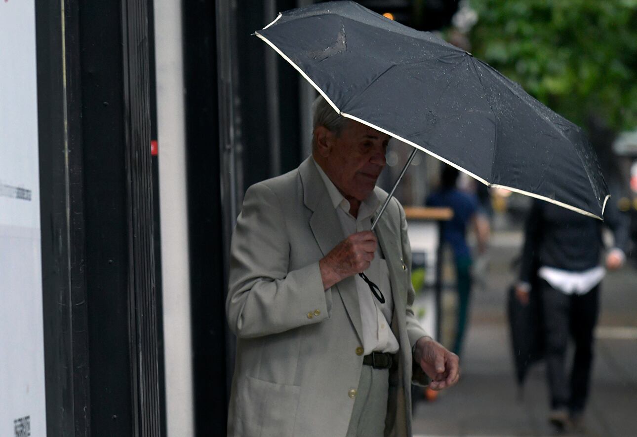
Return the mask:
<svg viewBox="0 0 637 437">
<path fill-rule="evenodd" d="M 319 97 L 312 156 L 245 194 L 226 302 L 238 337 L 229 435 L 410 436 L 412 380 L 457 382 L 458 357 L 411 309 L 401 205 L 370 230 L 388 142 Z"/>
</svg>

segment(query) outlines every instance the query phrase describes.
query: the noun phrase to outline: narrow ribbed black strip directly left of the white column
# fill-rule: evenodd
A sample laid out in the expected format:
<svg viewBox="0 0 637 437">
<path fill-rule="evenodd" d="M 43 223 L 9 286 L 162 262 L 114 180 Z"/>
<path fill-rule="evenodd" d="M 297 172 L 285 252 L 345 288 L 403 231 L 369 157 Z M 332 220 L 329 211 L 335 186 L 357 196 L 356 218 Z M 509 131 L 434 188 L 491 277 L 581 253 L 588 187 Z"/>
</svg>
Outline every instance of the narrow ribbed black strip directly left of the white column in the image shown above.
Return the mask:
<svg viewBox="0 0 637 437">
<path fill-rule="evenodd" d="M 124 126 L 129 221 L 129 316 L 136 431 L 159 436 L 159 350 L 150 155 L 148 2 L 122 1 Z M 132 281 L 131 281 L 132 279 Z M 131 288 L 132 286 L 132 288 Z"/>
</svg>

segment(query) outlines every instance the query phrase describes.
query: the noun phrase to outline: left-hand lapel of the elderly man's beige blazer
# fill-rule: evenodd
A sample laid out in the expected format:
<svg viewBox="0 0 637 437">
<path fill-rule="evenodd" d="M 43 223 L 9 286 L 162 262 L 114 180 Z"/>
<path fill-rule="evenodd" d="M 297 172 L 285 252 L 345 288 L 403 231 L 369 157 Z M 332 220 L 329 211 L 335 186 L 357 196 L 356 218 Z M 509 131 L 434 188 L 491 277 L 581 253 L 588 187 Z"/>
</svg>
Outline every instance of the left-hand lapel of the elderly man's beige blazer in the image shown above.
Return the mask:
<svg viewBox="0 0 637 437">
<path fill-rule="evenodd" d="M 305 205 L 313 211 L 310 217 L 310 228 L 323 256 L 326 256 L 329 251 L 345 239 L 345 235 L 343 235 L 341 230 L 341 223 L 338 221 L 336 209 L 334 209 L 334 205 L 332 205 L 329 198 L 325 183 L 320 174 L 318 174 L 318 170 L 311 158 L 301 163 L 299 173 L 303 183 Z M 354 325 L 356 334 L 362 344 L 361 307 L 358 302 L 355 277 L 345 278 L 335 284 L 334 287 L 336 287 L 341 296 L 345 310 L 347 310 L 350 321 Z"/>
</svg>

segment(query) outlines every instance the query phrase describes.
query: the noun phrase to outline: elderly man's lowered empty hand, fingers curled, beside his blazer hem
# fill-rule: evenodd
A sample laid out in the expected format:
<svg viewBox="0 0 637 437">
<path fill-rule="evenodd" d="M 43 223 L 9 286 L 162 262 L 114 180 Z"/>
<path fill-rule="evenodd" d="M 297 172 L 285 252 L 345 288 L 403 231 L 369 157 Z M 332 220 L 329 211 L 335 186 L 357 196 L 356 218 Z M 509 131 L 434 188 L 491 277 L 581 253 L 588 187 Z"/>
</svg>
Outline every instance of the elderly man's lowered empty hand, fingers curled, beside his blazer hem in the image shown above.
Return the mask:
<svg viewBox="0 0 637 437">
<path fill-rule="evenodd" d="M 451 387 L 460 378 L 459 358 L 431 337 L 420 337 L 416 342 L 413 359 L 431 378 L 429 388 L 442 390 Z"/>
</svg>

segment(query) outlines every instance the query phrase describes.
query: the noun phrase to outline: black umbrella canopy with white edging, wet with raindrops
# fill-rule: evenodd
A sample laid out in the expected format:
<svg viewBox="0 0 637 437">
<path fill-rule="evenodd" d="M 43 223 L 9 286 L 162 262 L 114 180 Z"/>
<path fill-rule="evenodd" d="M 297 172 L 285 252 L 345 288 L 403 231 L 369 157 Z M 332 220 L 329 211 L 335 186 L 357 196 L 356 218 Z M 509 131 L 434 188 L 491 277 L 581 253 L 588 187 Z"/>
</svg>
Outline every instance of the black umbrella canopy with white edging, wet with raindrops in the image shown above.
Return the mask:
<svg viewBox="0 0 637 437">
<path fill-rule="evenodd" d="M 287 11 L 255 34 L 343 116 L 489 186 L 603 216 L 608 188 L 582 130 L 471 53 L 352 1 Z"/>
</svg>

